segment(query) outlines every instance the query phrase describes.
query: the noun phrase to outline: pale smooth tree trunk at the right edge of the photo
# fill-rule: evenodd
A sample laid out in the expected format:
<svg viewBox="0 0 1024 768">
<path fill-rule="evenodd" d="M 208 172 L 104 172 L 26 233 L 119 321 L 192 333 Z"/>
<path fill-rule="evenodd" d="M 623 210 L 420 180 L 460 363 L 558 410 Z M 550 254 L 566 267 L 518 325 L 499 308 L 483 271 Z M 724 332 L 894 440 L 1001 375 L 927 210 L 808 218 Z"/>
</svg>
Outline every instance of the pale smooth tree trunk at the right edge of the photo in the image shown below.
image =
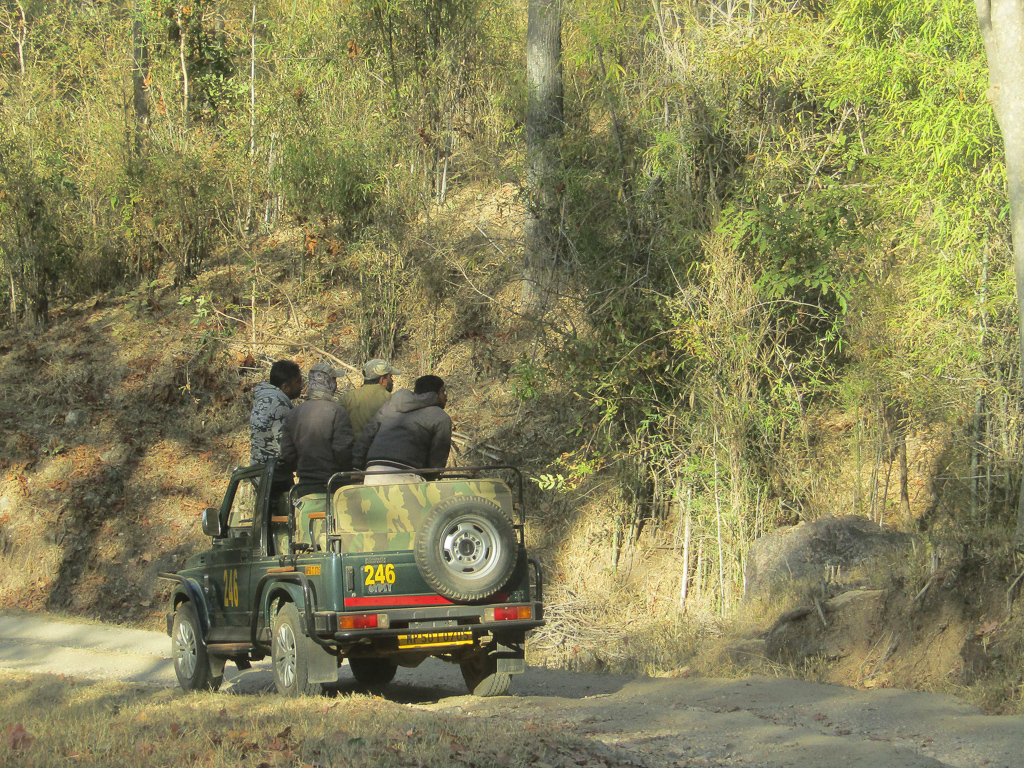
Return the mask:
<svg viewBox="0 0 1024 768">
<path fill-rule="evenodd" d="M 1006 151 L 1017 325 L 1024 360 L 1024 0 L 975 0 L 975 9 L 988 58 L 988 94 Z M 1024 549 L 1024 482 L 1014 543 Z"/>
</svg>

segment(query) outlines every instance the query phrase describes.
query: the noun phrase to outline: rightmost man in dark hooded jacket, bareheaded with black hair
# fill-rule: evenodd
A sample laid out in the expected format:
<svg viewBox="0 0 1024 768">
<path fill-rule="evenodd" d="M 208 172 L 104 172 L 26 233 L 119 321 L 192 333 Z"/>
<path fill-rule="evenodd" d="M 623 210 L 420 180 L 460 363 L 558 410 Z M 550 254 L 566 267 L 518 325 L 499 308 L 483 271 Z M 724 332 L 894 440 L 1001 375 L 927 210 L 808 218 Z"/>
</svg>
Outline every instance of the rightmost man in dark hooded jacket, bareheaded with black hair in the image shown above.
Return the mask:
<svg viewBox="0 0 1024 768">
<path fill-rule="evenodd" d="M 368 472 L 367 485 L 421 482 L 441 469 L 452 451 L 452 418 L 444 413 L 447 390 L 436 376 L 421 376 L 413 391 L 399 389 L 370 420 L 355 441 L 353 463 Z"/>
</svg>

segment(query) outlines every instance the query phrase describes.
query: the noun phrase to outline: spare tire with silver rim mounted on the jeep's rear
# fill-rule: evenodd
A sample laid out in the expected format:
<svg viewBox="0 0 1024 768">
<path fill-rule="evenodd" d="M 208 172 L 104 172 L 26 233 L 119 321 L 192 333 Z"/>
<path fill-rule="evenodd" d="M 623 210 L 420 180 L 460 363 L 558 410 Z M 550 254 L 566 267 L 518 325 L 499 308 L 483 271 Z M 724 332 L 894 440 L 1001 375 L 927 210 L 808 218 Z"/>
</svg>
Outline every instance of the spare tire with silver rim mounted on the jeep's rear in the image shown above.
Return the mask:
<svg viewBox="0 0 1024 768">
<path fill-rule="evenodd" d="M 432 507 L 416 532 L 416 566 L 439 595 L 484 600 L 515 569 L 518 543 L 501 507 L 477 496 L 456 496 Z"/>
</svg>

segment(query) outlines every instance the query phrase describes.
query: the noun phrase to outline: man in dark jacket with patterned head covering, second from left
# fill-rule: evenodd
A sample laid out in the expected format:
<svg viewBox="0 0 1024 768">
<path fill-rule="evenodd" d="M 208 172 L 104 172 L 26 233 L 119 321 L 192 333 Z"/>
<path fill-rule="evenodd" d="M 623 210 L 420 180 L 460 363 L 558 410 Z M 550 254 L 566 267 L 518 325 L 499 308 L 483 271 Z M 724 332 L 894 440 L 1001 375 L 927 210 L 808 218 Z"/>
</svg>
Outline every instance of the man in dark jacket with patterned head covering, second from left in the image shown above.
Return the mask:
<svg viewBox="0 0 1024 768">
<path fill-rule="evenodd" d="M 309 369 L 306 401 L 285 417 L 281 459 L 301 484 L 326 485 L 335 472 L 352 468 L 352 427 L 334 399 L 338 373 L 326 362 Z"/>
</svg>

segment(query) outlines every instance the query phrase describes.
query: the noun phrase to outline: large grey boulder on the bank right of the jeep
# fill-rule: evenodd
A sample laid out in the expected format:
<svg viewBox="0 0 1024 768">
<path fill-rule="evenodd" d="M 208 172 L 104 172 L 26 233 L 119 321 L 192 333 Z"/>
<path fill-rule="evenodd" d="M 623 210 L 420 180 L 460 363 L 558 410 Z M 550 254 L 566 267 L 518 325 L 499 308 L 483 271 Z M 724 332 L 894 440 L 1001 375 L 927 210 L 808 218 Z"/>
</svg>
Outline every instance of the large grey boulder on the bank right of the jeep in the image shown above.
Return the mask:
<svg viewBox="0 0 1024 768">
<path fill-rule="evenodd" d="M 795 582 L 810 585 L 843 579 L 844 571 L 865 571 L 904 551 L 912 541 L 909 534 L 885 530 L 857 515 L 820 517 L 779 528 L 751 548 L 744 597 L 770 598 Z"/>
</svg>

